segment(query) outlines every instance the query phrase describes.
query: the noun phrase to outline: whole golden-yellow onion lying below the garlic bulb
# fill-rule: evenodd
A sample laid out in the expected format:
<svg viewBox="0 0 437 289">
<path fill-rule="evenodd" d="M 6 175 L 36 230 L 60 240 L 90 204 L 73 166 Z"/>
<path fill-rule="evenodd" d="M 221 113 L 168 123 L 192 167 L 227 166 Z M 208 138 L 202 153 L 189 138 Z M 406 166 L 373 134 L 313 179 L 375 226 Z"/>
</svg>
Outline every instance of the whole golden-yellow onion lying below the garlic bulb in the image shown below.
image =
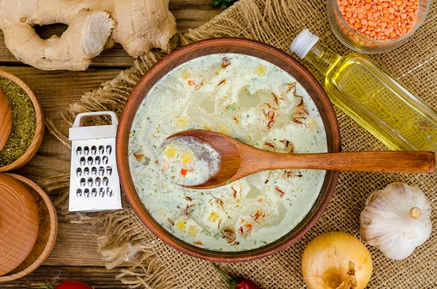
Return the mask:
<svg viewBox="0 0 437 289">
<path fill-rule="evenodd" d="M 348 274 L 351 265 L 355 275 Z M 345 232 L 319 235 L 309 242 L 302 255 L 302 274 L 309 289 L 364 289 L 372 270 L 369 250 Z"/>
</svg>

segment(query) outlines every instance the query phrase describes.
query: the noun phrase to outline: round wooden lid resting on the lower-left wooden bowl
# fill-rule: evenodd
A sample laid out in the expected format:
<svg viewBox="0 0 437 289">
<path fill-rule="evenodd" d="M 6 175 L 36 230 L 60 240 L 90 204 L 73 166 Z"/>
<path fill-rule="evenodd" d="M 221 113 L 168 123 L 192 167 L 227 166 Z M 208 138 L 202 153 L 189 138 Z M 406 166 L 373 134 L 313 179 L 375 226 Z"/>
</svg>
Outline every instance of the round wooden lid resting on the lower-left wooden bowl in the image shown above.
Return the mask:
<svg viewBox="0 0 437 289">
<path fill-rule="evenodd" d="M 38 209 L 20 181 L 0 173 L 0 276 L 18 267 L 34 248 Z"/>
</svg>

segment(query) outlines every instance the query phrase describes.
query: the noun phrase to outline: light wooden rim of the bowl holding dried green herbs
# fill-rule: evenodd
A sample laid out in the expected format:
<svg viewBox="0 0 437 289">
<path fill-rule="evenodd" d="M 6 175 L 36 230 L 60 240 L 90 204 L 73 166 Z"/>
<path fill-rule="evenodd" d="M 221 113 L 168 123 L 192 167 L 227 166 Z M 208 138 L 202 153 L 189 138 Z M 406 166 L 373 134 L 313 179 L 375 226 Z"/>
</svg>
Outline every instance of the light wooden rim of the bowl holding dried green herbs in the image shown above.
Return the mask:
<svg viewBox="0 0 437 289">
<path fill-rule="evenodd" d="M 24 153 L 15 161 L 13 161 L 12 163 L 8 163 L 7 165 L 0 166 L 0 172 L 6 172 L 6 171 L 17 170 L 18 168 L 21 168 L 23 165 L 28 163 L 31 160 L 31 158 L 34 157 L 36 151 L 38 151 L 40 147 L 41 142 L 43 142 L 45 126 L 44 126 L 43 110 L 41 110 L 40 104 L 38 103 L 38 99 L 36 98 L 34 92 L 31 91 L 31 89 L 27 86 L 27 84 L 25 84 L 22 80 L 20 80 L 20 78 L 16 77 L 15 75 L 11 75 L 10 73 L 7 73 L 5 71 L 0 71 L 0 78 L 6 78 L 7 80 L 14 82 L 19 87 L 21 87 L 22 90 L 27 94 L 27 96 L 29 96 L 31 103 L 34 105 L 34 110 L 36 114 L 36 130 L 31 144 L 29 145 L 27 150 L 24 151 Z M 3 107 L 3 105 L 1 106 Z M 2 108 L 1 111 L 2 112 L 7 111 L 6 105 L 5 108 L 4 109 Z M 6 113 L 2 113 L 2 114 L 6 115 Z M 10 121 L 13 121 L 13 119 Z M 4 125 L 6 126 L 6 124 Z M 2 124 L 0 124 L 0 127 L 1 126 Z M 10 126 L 8 126 L 8 129 L 10 129 Z M 7 142 L 7 140 L 3 140 L 3 141 Z"/>
</svg>

